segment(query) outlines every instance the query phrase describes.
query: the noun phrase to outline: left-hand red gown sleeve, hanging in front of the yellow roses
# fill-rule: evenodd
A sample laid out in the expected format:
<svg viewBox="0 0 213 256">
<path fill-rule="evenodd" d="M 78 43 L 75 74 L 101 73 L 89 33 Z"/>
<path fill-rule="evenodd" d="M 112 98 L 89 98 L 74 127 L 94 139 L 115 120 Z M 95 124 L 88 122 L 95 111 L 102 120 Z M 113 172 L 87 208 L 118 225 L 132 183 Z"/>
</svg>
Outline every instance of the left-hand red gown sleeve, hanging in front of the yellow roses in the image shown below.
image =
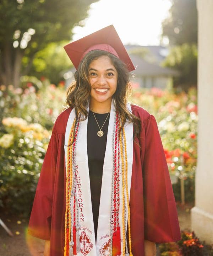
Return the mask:
<svg viewBox="0 0 213 256">
<path fill-rule="evenodd" d="M 44 157 L 28 225 L 28 234 L 44 240 L 50 240 L 53 188 L 59 147 L 55 124 Z"/>
</svg>

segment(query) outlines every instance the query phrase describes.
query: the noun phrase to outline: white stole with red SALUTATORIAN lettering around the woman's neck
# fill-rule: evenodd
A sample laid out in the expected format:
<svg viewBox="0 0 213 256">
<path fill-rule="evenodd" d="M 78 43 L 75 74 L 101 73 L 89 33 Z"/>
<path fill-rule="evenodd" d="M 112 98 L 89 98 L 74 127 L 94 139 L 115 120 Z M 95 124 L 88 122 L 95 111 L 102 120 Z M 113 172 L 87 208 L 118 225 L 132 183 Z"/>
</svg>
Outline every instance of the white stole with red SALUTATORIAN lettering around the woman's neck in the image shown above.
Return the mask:
<svg viewBox="0 0 213 256">
<path fill-rule="evenodd" d="M 131 112 L 131 106 L 127 103 L 127 108 Z M 87 107 L 89 111 L 89 106 Z M 111 206 L 111 183 L 113 171 L 113 127 L 115 118 L 115 103 L 114 99 L 111 102 L 109 127 L 107 133 L 107 145 L 105 151 L 102 188 L 100 194 L 100 206 L 98 217 L 97 241 L 95 243 L 94 223 L 92 214 L 92 202 L 89 181 L 89 168 L 87 157 L 87 122 L 88 118 L 80 122 L 78 138 L 76 142 L 76 194 L 77 203 L 79 206 L 79 223 L 80 229 L 80 247 L 81 252 L 78 256 L 105 256 L 110 255 L 110 206 Z M 67 121 L 65 133 L 65 160 L 67 171 L 67 145 L 69 143 L 69 135 L 72 123 L 75 119 L 75 108 L 70 112 Z M 130 197 L 131 176 L 132 176 L 132 161 L 133 161 L 133 126 L 132 123 L 127 123 L 124 126 L 126 135 L 127 161 L 128 161 L 128 192 Z M 119 223 L 121 233 L 121 255 L 122 255 L 122 175 L 121 175 L 121 157 L 120 157 L 120 210 Z M 126 220 L 127 222 L 127 220 Z M 127 223 L 126 223 L 127 226 Z M 112 239 L 112 238 L 111 238 Z"/>
</svg>

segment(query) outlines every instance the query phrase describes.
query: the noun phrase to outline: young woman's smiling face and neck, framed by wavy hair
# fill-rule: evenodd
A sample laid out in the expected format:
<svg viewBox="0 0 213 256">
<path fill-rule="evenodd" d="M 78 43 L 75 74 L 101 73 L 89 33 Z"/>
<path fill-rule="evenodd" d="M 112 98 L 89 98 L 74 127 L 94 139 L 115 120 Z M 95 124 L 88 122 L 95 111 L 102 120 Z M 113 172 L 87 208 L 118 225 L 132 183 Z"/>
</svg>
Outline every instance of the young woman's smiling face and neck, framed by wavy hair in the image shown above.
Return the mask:
<svg viewBox="0 0 213 256">
<path fill-rule="evenodd" d="M 100 56 L 90 63 L 88 79 L 91 85 L 91 109 L 94 112 L 110 111 L 112 97 L 117 88 L 118 72 L 108 56 Z"/>
</svg>

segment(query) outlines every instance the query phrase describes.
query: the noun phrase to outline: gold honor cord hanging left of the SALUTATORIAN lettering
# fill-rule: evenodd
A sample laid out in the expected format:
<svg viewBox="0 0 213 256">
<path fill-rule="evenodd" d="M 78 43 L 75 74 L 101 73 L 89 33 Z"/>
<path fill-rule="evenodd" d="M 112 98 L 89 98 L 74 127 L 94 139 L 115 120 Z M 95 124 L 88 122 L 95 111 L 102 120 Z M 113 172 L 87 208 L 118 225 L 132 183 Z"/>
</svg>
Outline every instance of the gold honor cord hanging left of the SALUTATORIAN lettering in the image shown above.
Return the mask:
<svg viewBox="0 0 213 256">
<path fill-rule="evenodd" d="M 65 246 L 64 246 L 64 256 L 66 256 L 67 252 L 67 223 L 69 227 L 69 241 L 70 241 L 70 231 L 71 231 L 71 222 L 70 222 L 70 207 L 69 207 L 69 199 L 71 195 L 71 187 L 72 187 L 72 138 L 74 133 L 74 124 L 75 119 L 72 124 L 72 128 L 70 130 L 70 136 L 69 136 L 69 143 L 68 143 L 68 150 L 67 150 L 67 177 L 66 177 L 66 212 L 65 212 Z M 70 145 L 70 146 L 69 146 Z M 71 166 L 71 167 L 70 167 Z M 69 185 L 69 178 L 70 178 L 70 185 Z M 68 194 L 68 188 L 69 188 L 69 194 Z M 67 220 L 67 214 L 68 214 L 68 220 Z"/>
</svg>

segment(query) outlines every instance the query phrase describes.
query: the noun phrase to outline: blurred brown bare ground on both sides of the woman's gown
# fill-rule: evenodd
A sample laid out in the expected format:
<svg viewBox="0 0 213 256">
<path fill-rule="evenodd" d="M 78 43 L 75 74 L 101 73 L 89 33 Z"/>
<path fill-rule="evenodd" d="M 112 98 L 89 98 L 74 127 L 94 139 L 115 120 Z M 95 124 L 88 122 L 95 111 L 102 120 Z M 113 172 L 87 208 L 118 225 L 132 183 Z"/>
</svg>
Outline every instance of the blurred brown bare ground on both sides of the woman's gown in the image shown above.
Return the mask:
<svg viewBox="0 0 213 256">
<path fill-rule="evenodd" d="M 190 209 L 193 204 L 181 206 L 177 204 L 178 218 L 181 230 L 190 231 Z M 27 235 L 28 219 L 0 214 L 1 219 L 14 234 L 7 235 L 0 227 L 0 256 L 42 256 L 44 241 Z"/>
</svg>

